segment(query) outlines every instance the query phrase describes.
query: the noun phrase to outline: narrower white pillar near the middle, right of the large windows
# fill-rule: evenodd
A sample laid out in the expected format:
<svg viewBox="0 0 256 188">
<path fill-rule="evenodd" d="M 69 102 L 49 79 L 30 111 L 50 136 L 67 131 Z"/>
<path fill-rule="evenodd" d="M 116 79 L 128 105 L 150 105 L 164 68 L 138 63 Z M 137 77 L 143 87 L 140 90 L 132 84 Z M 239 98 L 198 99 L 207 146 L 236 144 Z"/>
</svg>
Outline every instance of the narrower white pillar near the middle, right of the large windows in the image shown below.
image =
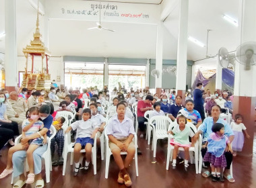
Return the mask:
<svg viewBox="0 0 256 188">
<path fill-rule="evenodd" d="M 158 95 L 162 92 L 162 39 L 163 39 L 163 23 L 162 21 L 157 26 L 156 34 L 156 70 L 159 73 L 159 77 L 156 77 L 156 93 Z"/>
</svg>

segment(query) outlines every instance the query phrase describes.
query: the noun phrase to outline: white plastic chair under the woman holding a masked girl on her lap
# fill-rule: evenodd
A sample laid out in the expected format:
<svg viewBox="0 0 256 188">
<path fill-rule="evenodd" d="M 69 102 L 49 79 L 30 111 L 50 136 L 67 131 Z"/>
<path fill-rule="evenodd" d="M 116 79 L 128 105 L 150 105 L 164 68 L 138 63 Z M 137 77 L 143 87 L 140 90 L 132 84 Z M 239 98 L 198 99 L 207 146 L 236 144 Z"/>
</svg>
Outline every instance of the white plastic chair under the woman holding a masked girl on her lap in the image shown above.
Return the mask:
<svg viewBox="0 0 256 188">
<path fill-rule="evenodd" d="M 54 126 L 51 126 L 50 128 L 50 131 L 51 131 L 51 137 L 47 137 L 47 149 L 46 151 L 44 152 L 44 154 L 42 154 L 42 158 L 44 159 L 44 165 L 45 165 L 45 175 L 46 175 L 46 183 L 49 183 L 50 182 L 50 171 L 53 171 L 53 168 L 52 168 L 52 158 L 51 158 L 51 140 L 52 138 L 55 136 L 56 134 L 56 129 Z M 20 143 L 20 140 L 22 139 L 22 135 L 18 136 L 16 139 L 15 139 L 15 145 L 17 145 L 18 143 Z M 28 164 L 27 162 L 25 163 L 25 169 L 24 169 L 24 174 L 26 173 L 26 167 L 28 167 Z M 13 184 L 13 174 L 11 175 L 11 184 Z"/>
</svg>

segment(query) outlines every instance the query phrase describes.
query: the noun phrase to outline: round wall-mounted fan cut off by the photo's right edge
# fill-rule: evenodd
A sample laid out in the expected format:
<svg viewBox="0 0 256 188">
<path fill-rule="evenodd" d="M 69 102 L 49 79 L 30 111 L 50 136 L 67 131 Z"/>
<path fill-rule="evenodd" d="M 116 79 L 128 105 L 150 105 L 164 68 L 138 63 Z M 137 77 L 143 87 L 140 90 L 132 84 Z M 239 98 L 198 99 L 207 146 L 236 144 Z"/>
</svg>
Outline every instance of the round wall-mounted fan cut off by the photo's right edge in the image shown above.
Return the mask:
<svg viewBox="0 0 256 188">
<path fill-rule="evenodd" d="M 256 64 L 256 42 L 245 42 L 236 49 L 236 60 L 250 70 Z"/>
</svg>

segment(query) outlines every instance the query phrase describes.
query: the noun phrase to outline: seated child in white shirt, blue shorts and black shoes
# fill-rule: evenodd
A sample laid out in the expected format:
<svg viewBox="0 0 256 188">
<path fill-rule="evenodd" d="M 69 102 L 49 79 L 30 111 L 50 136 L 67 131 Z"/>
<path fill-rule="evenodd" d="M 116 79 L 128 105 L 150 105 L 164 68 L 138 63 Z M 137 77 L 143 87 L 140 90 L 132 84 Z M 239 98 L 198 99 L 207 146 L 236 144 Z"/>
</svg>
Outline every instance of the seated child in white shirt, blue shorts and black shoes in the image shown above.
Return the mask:
<svg viewBox="0 0 256 188">
<path fill-rule="evenodd" d="M 77 130 L 76 140 L 74 146 L 73 160 L 75 162 L 75 170 L 73 175 L 77 176 L 81 164 L 79 164 L 80 151 L 86 149 L 86 165 L 84 169 L 88 169 L 90 160 L 92 158 L 92 146 L 94 145 L 94 137 L 98 128 L 95 129 L 94 122 L 91 118 L 91 110 L 86 108 L 83 110 L 82 120 L 76 121 L 67 128 L 65 134 L 71 130 Z"/>
</svg>

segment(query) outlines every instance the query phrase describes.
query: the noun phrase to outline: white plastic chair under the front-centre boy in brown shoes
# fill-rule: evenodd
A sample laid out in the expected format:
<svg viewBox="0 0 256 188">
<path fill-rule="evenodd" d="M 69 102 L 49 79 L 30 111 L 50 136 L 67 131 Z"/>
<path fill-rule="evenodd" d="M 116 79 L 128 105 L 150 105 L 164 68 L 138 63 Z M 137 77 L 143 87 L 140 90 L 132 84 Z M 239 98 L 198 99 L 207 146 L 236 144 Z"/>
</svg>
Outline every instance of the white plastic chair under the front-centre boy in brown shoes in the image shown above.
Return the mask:
<svg viewBox="0 0 256 188">
<path fill-rule="evenodd" d="M 108 179 L 108 169 L 109 169 L 109 162 L 110 162 L 110 156 L 112 154 L 109 146 L 108 146 L 108 136 L 106 135 L 106 132 L 104 133 L 105 138 L 106 138 L 106 170 L 105 170 L 105 178 Z M 139 176 L 139 171 L 138 171 L 138 160 L 137 160 L 137 135 L 135 134 L 133 137 L 133 142 L 135 145 L 135 169 L 136 169 L 136 176 Z M 127 154 L 127 152 L 121 152 L 121 154 Z"/>
</svg>

